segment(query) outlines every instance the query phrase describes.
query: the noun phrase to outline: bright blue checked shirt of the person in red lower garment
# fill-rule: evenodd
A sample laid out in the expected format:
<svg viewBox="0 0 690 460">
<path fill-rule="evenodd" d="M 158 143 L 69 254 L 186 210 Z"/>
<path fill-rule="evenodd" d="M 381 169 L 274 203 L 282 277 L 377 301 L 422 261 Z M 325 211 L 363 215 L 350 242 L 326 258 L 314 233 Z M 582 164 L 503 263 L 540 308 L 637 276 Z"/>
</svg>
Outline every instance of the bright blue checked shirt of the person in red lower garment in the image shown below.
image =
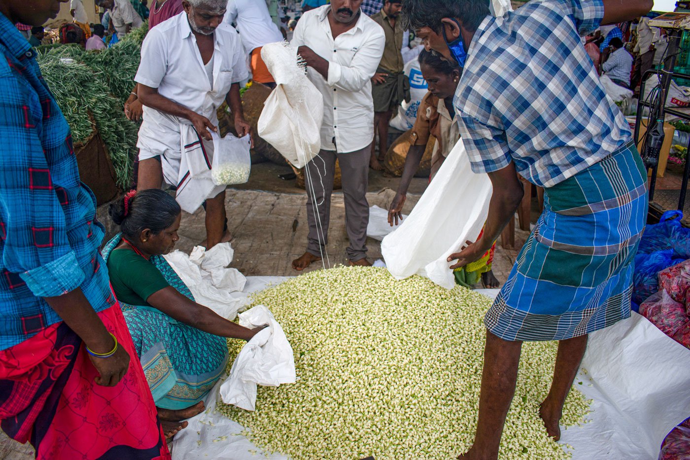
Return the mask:
<svg viewBox="0 0 690 460">
<path fill-rule="evenodd" d="M 2 14 L 0 52 L 0 349 L 7 349 L 61 321 L 43 297 L 81 287 L 96 312 L 115 299 L 70 128 L 36 52 Z"/>
</svg>

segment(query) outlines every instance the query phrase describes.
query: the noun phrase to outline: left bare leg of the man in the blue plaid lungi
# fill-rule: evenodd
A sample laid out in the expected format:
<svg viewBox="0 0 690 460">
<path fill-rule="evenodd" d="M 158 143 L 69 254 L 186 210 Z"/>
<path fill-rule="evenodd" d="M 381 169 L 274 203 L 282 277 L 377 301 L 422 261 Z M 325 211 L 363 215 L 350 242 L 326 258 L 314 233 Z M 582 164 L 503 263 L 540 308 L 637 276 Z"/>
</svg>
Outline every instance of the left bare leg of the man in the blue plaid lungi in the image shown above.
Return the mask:
<svg viewBox="0 0 690 460">
<path fill-rule="evenodd" d="M 486 331 L 479 420 L 472 448 L 458 459 L 498 459 L 503 425 L 515 394 L 522 342 L 504 341 Z"/>
</svg>

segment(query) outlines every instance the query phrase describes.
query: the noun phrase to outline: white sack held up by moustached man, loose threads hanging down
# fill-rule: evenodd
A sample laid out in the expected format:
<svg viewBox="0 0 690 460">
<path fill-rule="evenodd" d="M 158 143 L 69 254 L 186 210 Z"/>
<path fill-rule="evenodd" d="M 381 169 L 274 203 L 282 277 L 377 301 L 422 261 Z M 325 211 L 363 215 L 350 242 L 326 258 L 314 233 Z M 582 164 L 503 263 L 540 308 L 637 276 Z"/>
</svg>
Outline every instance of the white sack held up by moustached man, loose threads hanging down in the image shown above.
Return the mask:
<svg viewBox="0 0 690 460">
<path fill-rule="evenodd" d="M 259 116 L 257 131 L 295 168 L 302 168 L 319 153 L 324 98 L 298 64 L 297 48 L 287 42 L 266 44 L 262 59 L 275 79 Z"/>
</svg>

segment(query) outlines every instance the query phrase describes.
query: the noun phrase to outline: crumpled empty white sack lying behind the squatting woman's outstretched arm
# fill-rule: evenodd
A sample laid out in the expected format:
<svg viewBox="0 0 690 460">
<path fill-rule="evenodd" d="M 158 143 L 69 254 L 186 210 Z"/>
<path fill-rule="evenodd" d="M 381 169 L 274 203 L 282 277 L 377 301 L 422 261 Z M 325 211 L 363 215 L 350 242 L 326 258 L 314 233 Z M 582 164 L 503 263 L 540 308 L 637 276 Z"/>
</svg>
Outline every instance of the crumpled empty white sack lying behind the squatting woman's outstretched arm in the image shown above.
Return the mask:
<svg viewBox="0 0 690 460">
<path fill-rule="evenodd" d="M 233 320 L 250 303 L 242 294 L 246 285 L 244 275 L 237 269 L 226 268 L 233 261 L 233 252 L 228 242 L 215 245 L 210 251 L 197 246 L 189 256 L 172 251 L 164 257 L 197 303 Z"/>
</svg>

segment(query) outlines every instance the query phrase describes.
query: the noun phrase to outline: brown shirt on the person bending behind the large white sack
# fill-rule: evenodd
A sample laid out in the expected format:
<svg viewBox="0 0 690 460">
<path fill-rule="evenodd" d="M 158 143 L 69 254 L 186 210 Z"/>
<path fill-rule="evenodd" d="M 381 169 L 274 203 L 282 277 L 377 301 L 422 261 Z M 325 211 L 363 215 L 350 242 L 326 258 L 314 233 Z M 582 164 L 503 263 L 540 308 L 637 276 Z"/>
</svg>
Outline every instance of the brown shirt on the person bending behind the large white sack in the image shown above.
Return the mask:
<svg viewBox="0 0 690 460">
<path fill-rule="evenodd" d="M 411 145 L 426 145 L 429 137 L 436 138 L 431 154 L 431 178 L 433 178 L 443 164 L 443 160 L 460 139 L 457 114 L 451 119 L 444 100 L 426 93 L 417 109 L 417 119 L 410 136 Z"/>
</svg>

